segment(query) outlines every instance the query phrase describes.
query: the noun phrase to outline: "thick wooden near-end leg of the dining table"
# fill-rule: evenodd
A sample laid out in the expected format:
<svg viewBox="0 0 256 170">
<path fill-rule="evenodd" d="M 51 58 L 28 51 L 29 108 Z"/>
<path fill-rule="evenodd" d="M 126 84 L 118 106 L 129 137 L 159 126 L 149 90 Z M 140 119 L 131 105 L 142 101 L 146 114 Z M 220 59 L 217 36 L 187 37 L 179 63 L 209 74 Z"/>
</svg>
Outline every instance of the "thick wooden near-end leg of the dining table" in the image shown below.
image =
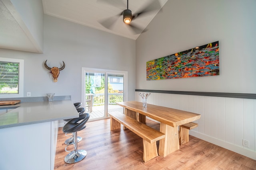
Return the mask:
<svg viewBox="0 0 256 170">
<path fill-rule="evenodd" d="M 168 154 L 180 149 L 178 127 L 172 127 L 160 123 L 160 132 L 165 134 L 164 139 L 160 139 L 158 154 L 167 156 Z"/>
</svg>

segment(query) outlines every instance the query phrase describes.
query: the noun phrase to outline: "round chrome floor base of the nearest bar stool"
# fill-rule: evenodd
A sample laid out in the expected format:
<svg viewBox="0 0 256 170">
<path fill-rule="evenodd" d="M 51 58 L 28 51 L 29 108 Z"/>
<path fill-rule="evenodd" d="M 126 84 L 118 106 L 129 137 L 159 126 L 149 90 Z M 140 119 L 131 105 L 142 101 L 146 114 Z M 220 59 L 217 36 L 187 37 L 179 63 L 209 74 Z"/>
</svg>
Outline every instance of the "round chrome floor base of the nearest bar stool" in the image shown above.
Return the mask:
<svg viewBox="0 0 256 170">
<path fill-rule="evenodd" d="M 86 150 L 79 149 L 77 152 L 70 152 L 65 158 L 64 161 L 68 164 L 73 164 L 83 160 L 87 155 Z"/>
</svg>

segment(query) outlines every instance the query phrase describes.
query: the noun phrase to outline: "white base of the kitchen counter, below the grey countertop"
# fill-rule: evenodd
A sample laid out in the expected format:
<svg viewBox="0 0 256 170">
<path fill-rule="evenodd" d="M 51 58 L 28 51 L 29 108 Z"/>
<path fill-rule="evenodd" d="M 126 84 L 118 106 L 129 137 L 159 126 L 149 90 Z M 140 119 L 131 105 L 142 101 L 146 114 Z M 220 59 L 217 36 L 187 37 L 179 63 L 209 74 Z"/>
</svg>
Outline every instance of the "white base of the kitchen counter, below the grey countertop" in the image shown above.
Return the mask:
<svg viewBox="0 0 256 170">
<path fill-rule="evenodd" d="M 4 128 L 0 135 L 1 170 L 54 169 L 58 121 Z"/>
</svg>

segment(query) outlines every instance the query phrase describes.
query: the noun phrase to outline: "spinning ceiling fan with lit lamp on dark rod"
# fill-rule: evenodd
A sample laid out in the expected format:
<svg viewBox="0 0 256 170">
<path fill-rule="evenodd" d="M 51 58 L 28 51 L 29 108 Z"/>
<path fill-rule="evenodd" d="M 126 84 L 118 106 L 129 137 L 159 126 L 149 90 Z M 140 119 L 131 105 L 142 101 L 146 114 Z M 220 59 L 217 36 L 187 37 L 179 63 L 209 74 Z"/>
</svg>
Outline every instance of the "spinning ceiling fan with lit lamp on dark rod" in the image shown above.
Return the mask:
<svg viewBox="0 0 256 170">
<path fill-rule="evenodd" d="M 101 0 L 103 2 L 103 0 Z M 112 0 L 104 0 L 104 2 L 107 2 L 108 4 L 111 5 L 120 5 L 120 0 L 118 1 L 118 3 L 114 3 Z M 147 4 L 142 10 L 139 10 L 138 12 L 136 12 L 135 14 L 132 14 L 132 11 L 129 10 L 128 8 L 128 0 L 127 0 L 127 9 L 123 10 L 120 14 L 116 15 L 116 16 L 112 16 L 110 18 L 106 18 L 104 20 L 100 20 L 99 23 L 101 25 L 103 25 L 104 27 L 106 27 L 107 29 L 112 29 L 114 23 L 118 20 L 118 18 L 120 16 L 123 16 L 123 21 L 125 24 L 127 24 L 132 31 L 134 32 L 134 34 L 139 34 L 142 32 L 145 32 L 145 29 L 140 28 L 139 26 L 137 26 L 134 23 L 131 23 L 133 20 L 135 20 L 136 18 L 143 16 L 144 14 L 148 13 L 148 12 L 152 12 L 155 10 L 160 10 L 161 6 L 158 0 L 154 0 L 151 3 Z"/>
</svg>

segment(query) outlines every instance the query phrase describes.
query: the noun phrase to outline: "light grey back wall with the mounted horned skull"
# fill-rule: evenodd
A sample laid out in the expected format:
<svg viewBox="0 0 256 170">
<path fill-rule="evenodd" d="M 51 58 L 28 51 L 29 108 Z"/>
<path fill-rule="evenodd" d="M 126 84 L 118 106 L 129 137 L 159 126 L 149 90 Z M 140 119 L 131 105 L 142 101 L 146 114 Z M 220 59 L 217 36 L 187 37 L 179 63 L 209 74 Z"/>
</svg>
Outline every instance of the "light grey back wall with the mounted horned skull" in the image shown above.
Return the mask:
<svg viewBox="0 0 256 170">
<path fill-rule="evenodd" d="M 101 68 L 128 71 L 128 100 L 135 99 L 135 41 L 92 29 L 83 25 L 44 15 L 44 53 L 28 53 L 0 49 L 0 56 L 24 59 L 24 97 L 71 95 L 73 102 L 81 101 L 81 68 Z M 60 71 L 58 82 L 44 67 L 66 67 Z"/>
</svg>

